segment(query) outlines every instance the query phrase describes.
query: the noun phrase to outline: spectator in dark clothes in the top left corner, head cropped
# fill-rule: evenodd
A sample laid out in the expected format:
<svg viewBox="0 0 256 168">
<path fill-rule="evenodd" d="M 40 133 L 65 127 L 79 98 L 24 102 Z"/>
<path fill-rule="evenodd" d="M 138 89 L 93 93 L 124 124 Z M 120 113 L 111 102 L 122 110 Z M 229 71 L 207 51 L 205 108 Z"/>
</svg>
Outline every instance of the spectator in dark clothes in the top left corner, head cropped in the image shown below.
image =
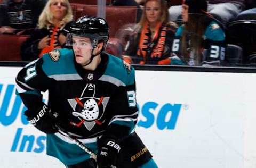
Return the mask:
<svg viewBox="0 0 256 168">
<path fill-rule="evenodd" d="M 28 35 L 36 27 L 46 0 L 10 0 L 1 6 L 0 33 Z"/>
</svg>

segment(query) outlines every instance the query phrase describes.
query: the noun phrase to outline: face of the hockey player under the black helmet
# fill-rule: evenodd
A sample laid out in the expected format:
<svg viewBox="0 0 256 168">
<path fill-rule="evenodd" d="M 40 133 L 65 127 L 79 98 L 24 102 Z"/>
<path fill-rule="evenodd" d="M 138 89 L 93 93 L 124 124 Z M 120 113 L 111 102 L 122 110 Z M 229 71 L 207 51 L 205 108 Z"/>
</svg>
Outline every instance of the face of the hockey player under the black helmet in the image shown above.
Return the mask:
<svg viewBox="0 0 256 168">
<path fill-rule="evenodd" d="M 82 66 L 89 63 L 92 56 L 91 40 L 87 37 L 73 36 L 72 43 L 76 62 Z"/>
</svg>

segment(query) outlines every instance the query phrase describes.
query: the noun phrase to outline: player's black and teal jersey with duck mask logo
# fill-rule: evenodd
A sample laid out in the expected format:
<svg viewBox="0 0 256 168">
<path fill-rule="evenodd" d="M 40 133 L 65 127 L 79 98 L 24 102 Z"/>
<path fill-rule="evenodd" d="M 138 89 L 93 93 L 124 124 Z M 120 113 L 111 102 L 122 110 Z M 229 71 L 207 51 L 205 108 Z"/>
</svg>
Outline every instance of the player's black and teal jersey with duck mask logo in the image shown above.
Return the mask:
<svg viewBox="0 0 256 168">
<path fill-rule="evenodd" d="M 72 49 L 57 49 L 27 64 L 18 74 L 17 92 L 27 108 L 42 103 L 49 91 L 48 106 L 59 112 L 63 129 L 97 152 L 97 138 L 111 124 L 134 132 L 138 117 L 135 74 L 121 59 L 101 54 L 95 71 L 77 64 Z M 89 158 L 81 148 L 60 133 L 47 135 L 47 154 L 66 165 Z"/>
</svg>

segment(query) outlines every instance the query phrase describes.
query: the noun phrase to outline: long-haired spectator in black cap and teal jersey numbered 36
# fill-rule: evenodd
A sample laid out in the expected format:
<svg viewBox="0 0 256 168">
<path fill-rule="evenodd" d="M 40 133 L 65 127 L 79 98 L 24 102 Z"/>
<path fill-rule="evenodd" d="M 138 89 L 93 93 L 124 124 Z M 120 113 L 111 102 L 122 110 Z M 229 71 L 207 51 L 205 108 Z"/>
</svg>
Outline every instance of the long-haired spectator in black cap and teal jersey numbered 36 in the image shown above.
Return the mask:
<svg viewBox="0 0 256 168">
<path fill-rule="evenodd" d="M 207 16 L 206 0 L 186 0 L 182 7 L 185 24 L 175 33 L 171 65 L 220 65 L 225 58 L 225 33 Z"/>
</svg>

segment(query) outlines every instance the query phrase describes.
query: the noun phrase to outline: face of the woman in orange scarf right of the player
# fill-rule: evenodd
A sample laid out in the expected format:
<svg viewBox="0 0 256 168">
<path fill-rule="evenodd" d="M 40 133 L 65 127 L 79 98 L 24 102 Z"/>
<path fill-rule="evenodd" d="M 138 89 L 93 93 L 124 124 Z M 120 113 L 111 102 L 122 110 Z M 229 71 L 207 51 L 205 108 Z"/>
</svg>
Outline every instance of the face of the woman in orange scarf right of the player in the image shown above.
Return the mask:
<svg viewBox="0 0 256 168">
<path fill-rule="evenodd" d="M 157 23 L 161 17 L 161 7 L 158 1 L 148 1 L 145 5 L 146 18 L 149 23 Z"/>
</svg>

